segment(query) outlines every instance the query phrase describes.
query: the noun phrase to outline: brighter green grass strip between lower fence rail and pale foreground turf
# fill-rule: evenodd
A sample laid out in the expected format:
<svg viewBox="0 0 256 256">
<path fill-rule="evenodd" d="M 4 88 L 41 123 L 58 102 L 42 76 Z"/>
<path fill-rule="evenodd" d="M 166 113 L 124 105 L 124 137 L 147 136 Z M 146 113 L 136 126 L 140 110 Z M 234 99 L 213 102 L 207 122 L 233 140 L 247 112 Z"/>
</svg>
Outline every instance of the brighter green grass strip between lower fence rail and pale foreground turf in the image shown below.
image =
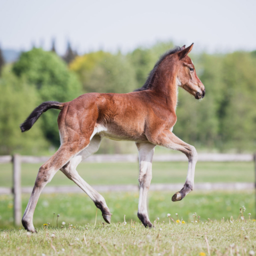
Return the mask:
<svg viewBox="0 0 256 256">
<path fill-rule="evenodd" d="M 138 220 L 137 209 L 139 193 L 102 193 L 105 197 L 110 212 L 113 213 L 111 221 L 122 222 L 124 215 L 126 221 Z M 172 218 L 175 213 L 186 222 L 193 220 L 193 213 L 201 216 L 201 220 L 207 218 L 220 220 L 230 219 L 231 215 L 236 219 L 239 214 L 239 207 L 246 207 L 247 213 L 255 218 L 255 194 L 253 191 L 230 191 L 230 192 L 205 192 L 196 191 L 188 194 L 182 201 L 172 202 L 172 192 L 149 193 L 149 217 L 151 221 L 159 218 L 167 221 L 167 213 Z M 29 195 L 22 195 L 22 213 L 25 211 Z M 12 196 L 0 196 L 0 228 L 12 228 L 13 200 Z M 42 194 L 39 197 L 34 215 L 35 227 L 41 227 L 44 223 L 52 223 L 53 213 L 60 214 L 59 221 L 65 221 L 73 225 L 84 225 L 94 223 L 96 207 L 86 194 Z M 103 218 L 98 211 L 98 222 Z"/>
</svg>

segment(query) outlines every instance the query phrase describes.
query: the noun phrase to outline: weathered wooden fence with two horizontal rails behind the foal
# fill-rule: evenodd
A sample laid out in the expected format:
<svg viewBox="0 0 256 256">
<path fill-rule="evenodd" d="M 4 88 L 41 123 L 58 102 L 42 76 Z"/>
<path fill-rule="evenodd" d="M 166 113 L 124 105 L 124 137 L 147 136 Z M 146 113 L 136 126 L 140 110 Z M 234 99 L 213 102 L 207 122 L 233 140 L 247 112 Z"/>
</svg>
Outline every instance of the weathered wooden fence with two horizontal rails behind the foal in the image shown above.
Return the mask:
<svg viewBox="0 0 256 256">
<path fill-rule="evenodd" d="M 14 224 L 21 224 L 21 194 L 31 193 L 33 187 L 21 187 L 21 163 L 44 163 L 50 157 L 36 156 L 0 156 L 0 164 L 12 163 L 13 165 L 13 187 L 0 187 L 0 194 L 13 194 L 13 215 Z M 170 155 L 155 155 L 155 162 L 187 162 L 187 157 L 181 154 Z M 255 166 L 255 181 L 251 183 L 196 183 L 195 190 L 245 190 L 256 188 L 256 154 L 198 154 L 199 162 L 252 162 Z M 138 162 L 138 155 L 92 155 L 83 162 L 90 163 L 120 163 L 120 162 Z M 179 190 L 182 184 L 152 184 L 150 190 Z M 98 191 L 138 191 L 136 185 L 112 185 L 112 186 L 92 186 Z M 45 187 L 43 193 L 80 193 L 82 190 L 79 187 Z"/>
</svg>

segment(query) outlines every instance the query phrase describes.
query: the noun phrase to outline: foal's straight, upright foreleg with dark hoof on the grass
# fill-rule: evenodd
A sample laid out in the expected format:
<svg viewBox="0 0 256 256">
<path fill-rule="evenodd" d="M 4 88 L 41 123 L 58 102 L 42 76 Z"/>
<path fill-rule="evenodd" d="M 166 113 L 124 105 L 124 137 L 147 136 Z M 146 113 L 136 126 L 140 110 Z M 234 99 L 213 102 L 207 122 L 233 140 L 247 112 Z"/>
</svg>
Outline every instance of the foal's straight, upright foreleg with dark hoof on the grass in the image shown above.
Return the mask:
<svg viewBox="0 0 256 256">
<path fill-rule="evenodd" d="M 156 145 L 151 143 L 136 143 L 139 150 L 140 161 L 140 197 L 138 206 L 138 218 L 141 220 L 145 227 L 152 227 L 152 223 L 148 217 L 147 211 L 147 195 L 152 179 L 152 159 L 154 155 L 154 148 Z"/>
</svg>

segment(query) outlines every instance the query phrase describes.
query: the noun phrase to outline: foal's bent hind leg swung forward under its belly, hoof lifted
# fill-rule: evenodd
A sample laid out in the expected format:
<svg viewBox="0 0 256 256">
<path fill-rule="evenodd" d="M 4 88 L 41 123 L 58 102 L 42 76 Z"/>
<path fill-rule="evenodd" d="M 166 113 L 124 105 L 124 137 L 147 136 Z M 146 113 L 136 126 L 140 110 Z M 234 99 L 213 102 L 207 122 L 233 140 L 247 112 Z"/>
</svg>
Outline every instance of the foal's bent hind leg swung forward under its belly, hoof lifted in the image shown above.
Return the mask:
<svg viewBox="0 0 256 256">
<path fill-rule="evenodd" d="M 91 142 L 87 148 L 81 151 L 77 156 L 72 158 L 65 166 L 60 170 L 76 185 L 81 188 L 94 202 L 95 206 L 99 208 L 102 212 L 103 219 L 110 223 L 111 213 L 106 204 L 105 198 L 100 195 L 95 189 L 93 189 L 87 182 L 76 171 L 76 167 L 81 163 L 85 158 L 89 157 L 93 153 L 97 152 L 100 146 L 101 137 L 97 134 L 91 139 Z"/>
</svg>

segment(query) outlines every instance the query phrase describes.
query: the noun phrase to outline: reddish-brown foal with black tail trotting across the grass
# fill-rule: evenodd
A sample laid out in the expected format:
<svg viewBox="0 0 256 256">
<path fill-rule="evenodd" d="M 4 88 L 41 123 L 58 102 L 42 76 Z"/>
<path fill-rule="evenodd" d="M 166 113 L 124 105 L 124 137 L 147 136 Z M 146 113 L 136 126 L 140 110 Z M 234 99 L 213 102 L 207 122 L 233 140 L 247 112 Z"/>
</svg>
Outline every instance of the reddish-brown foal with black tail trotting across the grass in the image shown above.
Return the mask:
<svg viewBox="0 0 256 256">
<path fill-rule="evenodd" d="M 95 153 L 103 137 L 113 140 L 134 141 L 140 160 L 140 197 L 138 217 L 145 227 L 152 227 L 147 213 L 147 193 L 152 173 L 152 158 L 156 145 L 179 150 L 188 157 L 188 174 L 183 188 L 175 193 L 172 201 L 179 201 L 194 187 L 197 161 L 196 149 L 180 140 L 173 133 L 177 121 L 178 86 L 196 99 L 205 95 L 204 85 L 196 75 L 193 62 L 188 57 L 189 47 L 176 47 L 165 53 L 140 89 L 131 93 L 86 93 L 73 101 L 60 103 L 47 101 L 30 114 L 20 125 L 28 131 L 48 109 L 60 109 L 58 126 L 61 146 L 38 171 L 35 186 L 22 218 L 28 231 L 35 232 L 33 215 L 45 185 L 61 170 L 92 199 L 101 210 L 103 219 L 110 223 L 111 213 L 105 199 L 86 183 L 76 171 L 76 166 Z"/>
</svg>

